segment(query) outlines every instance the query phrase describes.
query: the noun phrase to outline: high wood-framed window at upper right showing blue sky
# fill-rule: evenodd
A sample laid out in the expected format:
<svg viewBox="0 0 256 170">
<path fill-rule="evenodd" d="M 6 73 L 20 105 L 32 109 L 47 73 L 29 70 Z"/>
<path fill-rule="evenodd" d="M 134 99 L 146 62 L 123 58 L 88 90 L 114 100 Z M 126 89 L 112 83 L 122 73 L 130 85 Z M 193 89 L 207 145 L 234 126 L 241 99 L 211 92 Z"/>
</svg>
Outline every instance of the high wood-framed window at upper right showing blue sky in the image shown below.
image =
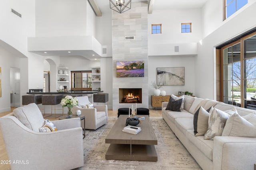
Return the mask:
<svg viewBox="0 0 256 170">
<path fill-rule="evenodd" d="M 230 17 L 240 8 L 245 6 L 248 3 L 248 0 L 224 0 L 225 3 L 225 19 Z"/>
</svg>

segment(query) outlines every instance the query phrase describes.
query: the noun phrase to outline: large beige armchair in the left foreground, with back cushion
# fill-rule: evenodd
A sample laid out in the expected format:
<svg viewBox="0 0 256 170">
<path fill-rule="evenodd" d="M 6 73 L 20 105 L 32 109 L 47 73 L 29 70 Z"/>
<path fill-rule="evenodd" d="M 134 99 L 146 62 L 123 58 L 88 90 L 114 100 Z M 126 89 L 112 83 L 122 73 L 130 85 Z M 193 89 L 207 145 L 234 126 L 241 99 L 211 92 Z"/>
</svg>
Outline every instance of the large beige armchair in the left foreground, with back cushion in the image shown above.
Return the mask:
<svg viewBox="0 0 256 170">
<path fill-rule="evenodd" d="M 13 113 L 0 118 L 12 170 L 70 170 L 84 166 L 80 119 L 52 123 L 58 131 L 39 131 L 45 120 L 35 103 L 18 107 Z"/>
</svg>

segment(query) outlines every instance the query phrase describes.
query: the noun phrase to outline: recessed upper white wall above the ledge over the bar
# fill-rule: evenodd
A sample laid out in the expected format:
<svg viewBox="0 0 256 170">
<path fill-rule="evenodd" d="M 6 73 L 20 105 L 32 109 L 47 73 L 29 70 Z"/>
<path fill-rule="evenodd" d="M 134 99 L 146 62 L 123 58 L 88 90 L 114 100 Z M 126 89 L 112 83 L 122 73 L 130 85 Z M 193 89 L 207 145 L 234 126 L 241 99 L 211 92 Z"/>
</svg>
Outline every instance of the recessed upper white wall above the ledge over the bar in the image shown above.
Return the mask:
<svg viewBox="0 0 256 170">
<path fill-rule="evenodd" d="M 35 7 L 36 37 L 86 35 L 87 0 L 36 0 Z"/>
</svg>

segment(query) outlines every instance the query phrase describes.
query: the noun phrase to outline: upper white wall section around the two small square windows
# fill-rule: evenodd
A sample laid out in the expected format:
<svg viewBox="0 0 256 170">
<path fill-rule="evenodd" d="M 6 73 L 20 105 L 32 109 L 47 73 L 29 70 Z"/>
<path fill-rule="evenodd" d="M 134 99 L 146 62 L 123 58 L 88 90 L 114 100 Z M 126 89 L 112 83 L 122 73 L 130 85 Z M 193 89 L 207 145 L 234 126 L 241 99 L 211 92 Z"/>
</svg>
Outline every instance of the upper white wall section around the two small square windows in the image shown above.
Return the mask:
<svg viewBox="0 0 256 170">
<path fill-rule="evenodd" d="M 192 33 L 181 33 L 181 23 L 186 22 L 192 23 Z M 159 23 L 162 33 L 151 34 L 151 25 Z M 201 9 L 154 10 L 148 14 L 148 44 L 194 43 L 202 38 L 201 32 Z"/>
</svg>

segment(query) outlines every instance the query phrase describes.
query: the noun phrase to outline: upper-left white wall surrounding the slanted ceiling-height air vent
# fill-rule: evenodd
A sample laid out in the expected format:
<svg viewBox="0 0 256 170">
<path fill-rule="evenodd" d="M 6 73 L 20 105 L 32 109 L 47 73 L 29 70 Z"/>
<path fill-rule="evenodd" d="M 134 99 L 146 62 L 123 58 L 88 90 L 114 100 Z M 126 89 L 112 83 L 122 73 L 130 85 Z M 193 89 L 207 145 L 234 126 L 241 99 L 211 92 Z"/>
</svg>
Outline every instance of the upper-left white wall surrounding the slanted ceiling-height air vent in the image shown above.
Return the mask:
<svg viewBox="0 0 256 170">
<path fill-rule="evenodd" d="M 35 0 L 0 1 L 0 40 L 27 54 L 27 37 L 35 35 Z M 11 12 L 22 14 L 22 18 Z"/>
</svg>

